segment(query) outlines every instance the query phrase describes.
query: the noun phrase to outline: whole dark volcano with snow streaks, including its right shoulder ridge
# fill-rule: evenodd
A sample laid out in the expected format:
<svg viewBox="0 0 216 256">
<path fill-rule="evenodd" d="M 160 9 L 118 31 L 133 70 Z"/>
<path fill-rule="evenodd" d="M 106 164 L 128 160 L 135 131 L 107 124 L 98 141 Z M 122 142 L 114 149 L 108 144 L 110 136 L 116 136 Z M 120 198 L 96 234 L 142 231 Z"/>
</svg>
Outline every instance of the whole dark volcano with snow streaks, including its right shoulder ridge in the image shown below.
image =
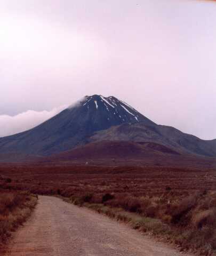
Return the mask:
<svg viewBox="0 0 216 256">
<path fill-rule="evenodd" d="M 158 125 L 113 96 L 92 95 L 34 129 L 0 138 L 0 161 L 5 161 L 5 156 L 12 161 L 13 156 L 56 155 L 97 141 L 118 141 L 118 147 L 121 141 L 150 142 L 178 154 L 216 156 L 216 140 L 201 140 L 174 127 Z"/>
</svg>

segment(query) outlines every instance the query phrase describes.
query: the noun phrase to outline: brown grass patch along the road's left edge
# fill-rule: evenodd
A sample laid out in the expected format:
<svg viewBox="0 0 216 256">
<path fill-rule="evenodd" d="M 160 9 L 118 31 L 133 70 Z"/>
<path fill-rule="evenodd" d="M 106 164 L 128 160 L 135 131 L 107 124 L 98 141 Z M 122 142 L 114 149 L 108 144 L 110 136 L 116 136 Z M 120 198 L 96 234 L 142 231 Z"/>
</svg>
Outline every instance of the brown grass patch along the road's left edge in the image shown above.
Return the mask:
<svg viewBox="0 0 216 256">
<path fill-rule="evenodd" d="M 0 190 L 0 247 L 27 220 L 37 197 L 25 191 Z"/>
</svg>

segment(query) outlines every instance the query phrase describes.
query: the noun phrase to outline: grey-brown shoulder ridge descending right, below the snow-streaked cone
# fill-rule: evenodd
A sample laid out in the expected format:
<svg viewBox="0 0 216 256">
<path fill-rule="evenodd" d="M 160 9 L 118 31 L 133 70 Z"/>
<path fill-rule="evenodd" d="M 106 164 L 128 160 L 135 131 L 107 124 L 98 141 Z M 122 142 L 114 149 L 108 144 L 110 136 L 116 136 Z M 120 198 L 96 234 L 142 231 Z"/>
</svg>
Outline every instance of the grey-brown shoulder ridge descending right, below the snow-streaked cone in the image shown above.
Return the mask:
<svg viewBox="0 0 216 256">
<path fill-rule="evenodd" d="M 182 153 L 192 153 L 209 157 L 216 156 L 215 140 L 201 140 L 193 135 L 164 125 L 137 123 L 113 126 L 106 131 L 95 133 L 90 138 L 90 141 L 100 140 L 149 141 L 170 147 Z"/>
</svg>

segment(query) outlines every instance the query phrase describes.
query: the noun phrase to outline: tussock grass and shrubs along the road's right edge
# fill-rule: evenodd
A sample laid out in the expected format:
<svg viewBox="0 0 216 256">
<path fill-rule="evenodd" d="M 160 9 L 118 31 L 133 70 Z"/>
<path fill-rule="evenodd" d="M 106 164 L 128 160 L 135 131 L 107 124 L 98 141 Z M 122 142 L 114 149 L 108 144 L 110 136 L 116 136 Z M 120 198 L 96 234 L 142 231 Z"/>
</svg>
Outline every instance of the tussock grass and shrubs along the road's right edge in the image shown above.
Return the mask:
<svg viewBox="0 0 216 256">
<path fill-rule="evenodd" d="M 103 195 L 105 196 L 105 195 Z M 151 203 L 147 198 L 142 198 L 138 204 L 139 198 L 122 207 L 118 207 L 108 199 L 106 202 L 94 203 L 93 196 L 85 194 L 82 196 L 61 197 L 68 203 L 77 206 L 84 206 L 98 213 L 105 214 L 109 218 L 129 223 L 133 229 L 137 229 L 148 235 L 153 235 L 160 241 L 172 243 L 178 247 L 180 251 L 190 251 L 199 255 L 216 255 L 216 207 L 212 205 L 215 195 L 211 194 L 211 199 L 205 193 L 195 193 L 178 204 L 169 205 L 168 209 L 162 214 L 160 207 L 156 207 L 157 212 L 140 211 L 142 207 L 141 201 L 145 199 L 147 207 L 151 207 Z M 106 195 L 108 197 L 108 195 Z M 110 200 L 110 202 L 108 202 Z M 134 206 L 135 205 L 135 206 Z M 210 209 L 206 210 L 206 207 Z M 143 209 L 143 208 L 142 208 Z M 148 216 L 151 215 L 153 217 Z M 163 215 L 163 216 L 162 216 Z"/>
</svg>

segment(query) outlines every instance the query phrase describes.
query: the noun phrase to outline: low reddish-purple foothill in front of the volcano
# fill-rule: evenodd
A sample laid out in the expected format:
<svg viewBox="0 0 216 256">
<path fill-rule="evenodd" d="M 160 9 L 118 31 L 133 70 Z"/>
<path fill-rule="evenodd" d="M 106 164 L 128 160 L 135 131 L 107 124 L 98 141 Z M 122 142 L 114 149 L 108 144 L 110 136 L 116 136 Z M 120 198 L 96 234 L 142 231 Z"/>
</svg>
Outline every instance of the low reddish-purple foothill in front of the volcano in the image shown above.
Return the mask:
<svg viewBox="0 0 216 256">
<path fill-rule="evenodd" d="M 132 141 L 91 142 L 70 151 L 44 157 L 41 162 L 60 165 L 216 167 L 216 159 L 213 157 L 182 153 L 154 142 Z"/>
</svg>

